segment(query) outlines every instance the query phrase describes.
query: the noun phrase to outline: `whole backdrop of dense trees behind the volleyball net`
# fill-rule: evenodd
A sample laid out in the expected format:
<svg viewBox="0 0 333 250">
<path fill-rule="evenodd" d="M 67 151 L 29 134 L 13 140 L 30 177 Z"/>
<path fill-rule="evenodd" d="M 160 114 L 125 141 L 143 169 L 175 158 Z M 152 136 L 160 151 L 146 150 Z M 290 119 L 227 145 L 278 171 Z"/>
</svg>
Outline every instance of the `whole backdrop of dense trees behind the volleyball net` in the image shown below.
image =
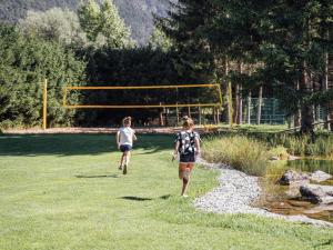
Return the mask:
<svg viewBox="0 0 333 250">
<path fill-rule="evenodd" d="M 14 24 L 1 24 L 2 127 L 40 124 L 38 84 L 44 78 L 50 81 L 49 126 L 113 126 L 122 116 L 133 116 L 140 124 L 148 118 L 163 124 L 163 117 L 169 116 L 167 109 L 67 110 L 61 103 L 67 84 L 184 83 L 221 86 L 223 107 L 210 113 L 215 122 L 253 122 L 255 97 L 258 124 L 263 98 L 279 99 L 285 118 L 304 133 L 312 133 L 320 119 L 327 128 L 333 123 L 332 1 L 179 0 L 167 14 L 158 1 L 124 2 L 88 0 L 74 10 L 28 11 Z M 145 6 L 139 2 L 149 8 L 143 10 Z M 154 18 L 148 42 L 138 46 L 133 33 L 139 28 L 130 27 L 121 12 L 134 17 L 132 7 L 140 7 L 142 14 L 153 6 L 160 8 L 153 12 L 162 14 Z M 149 19 L 152 27 L 152 16 Z M 137 24 L 147 27 L 140 21 Z M 168 99 L 171 103 L 198 103 L 215 98 L 211 91 L 178 94 L 72 91 L 68 102 L 162 103 Z M 201 120 L 205 110 L 194 107 L 180 112 L 195 112 Z"/>
</svg>

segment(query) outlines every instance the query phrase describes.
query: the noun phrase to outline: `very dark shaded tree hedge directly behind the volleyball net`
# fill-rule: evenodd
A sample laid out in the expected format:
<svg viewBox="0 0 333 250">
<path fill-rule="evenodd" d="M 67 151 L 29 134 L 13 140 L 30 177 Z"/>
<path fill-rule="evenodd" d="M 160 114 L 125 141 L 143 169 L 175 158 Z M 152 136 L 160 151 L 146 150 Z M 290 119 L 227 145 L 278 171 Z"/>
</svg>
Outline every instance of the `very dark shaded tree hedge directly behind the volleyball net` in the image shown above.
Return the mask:
<svg viewBox="0 0 333 250">
<path fill-rule="evenodd" d="M 98 82 L 100 86 L 158 86 L 158 84 L 181 84 L 181 83 L 204 83 L 201 80 L 204 69 L 192 69 L 188 64 L 183 64 L 184 58 L 176 50 L 171 48 L 168 51 L 162 49 L 153 50 L 149 47 L 134 49 L 92 49 L 85 51 L 82 58 L 88 60 L 88 76 L 90 82 Z M 186 91 L 189 93 L 190 91 Z M 215 92 L 214 92 L 215 93 Z M 212 92 L 206 96 L 199 93 L 195 89 L 191 92 L 191 100 L 194 102 L 201 96 L 210 100 L 213 97 Z M 160 92 L 147 91 L 91 91 L 87 92 L 80 103 L 159 103 L 169 101 L 188 102 L 189 96 L 182 94 L 181 91 L 175 94 L 161 90 Z M 150 110 L 114 110 L 109 111 L 89 110 L 82 113 L 81 122 L 87 122 L 89 126 L 111 126 L 117 122 L 122 116 L 132 116 L 137 121 L 143 123 L 148 118 L 158 117 L 160 109 Z M 113 123 L 114 124 L 114 123 Z"/>
</svg>

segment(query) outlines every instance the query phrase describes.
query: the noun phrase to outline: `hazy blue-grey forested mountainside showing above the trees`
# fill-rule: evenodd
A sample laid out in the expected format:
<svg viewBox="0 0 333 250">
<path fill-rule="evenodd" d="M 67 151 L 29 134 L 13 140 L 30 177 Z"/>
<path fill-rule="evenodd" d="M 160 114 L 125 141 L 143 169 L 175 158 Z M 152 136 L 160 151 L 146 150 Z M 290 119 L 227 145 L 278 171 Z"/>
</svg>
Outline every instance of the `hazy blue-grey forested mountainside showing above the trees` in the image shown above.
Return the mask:
<svg viewBox="0 0 333 250">
<path fill-rule="evenodd" d="M 153 14 L 165 16 L 168 0 L 113 0 L 120 16 L 131 27 L 132 37 L 139 44 L 148 42 L 153 29 Z M 28 10 L 46 11 L 54 7 L 77 10 L 81 0 L 2 0 L 0 20 L 17 22 L 27 16 Z M 102 2 L 102 1 L 100 1 Z"/>
</svg>

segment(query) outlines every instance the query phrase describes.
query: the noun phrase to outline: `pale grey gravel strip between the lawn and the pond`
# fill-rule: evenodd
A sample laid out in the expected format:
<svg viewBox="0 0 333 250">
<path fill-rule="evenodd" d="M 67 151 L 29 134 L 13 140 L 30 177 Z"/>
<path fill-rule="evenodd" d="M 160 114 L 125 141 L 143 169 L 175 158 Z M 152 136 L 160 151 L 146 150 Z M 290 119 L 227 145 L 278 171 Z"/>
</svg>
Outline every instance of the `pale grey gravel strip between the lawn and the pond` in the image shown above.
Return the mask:
<svg viewBox="0 0 333 250">
<path fill-rule="evenodd" d="M 194 207 L 199 210 L 215 213 L 251 213 L 333 228 L 333 223 L 327 221 L 315 220 L 305 216 L 282 216 L 251 207 L 260 198 L 262 191 L 256 177 L 248 176 L 225 164 L 208 163 L 202 159 L 198 163 L 221 171 L 219 187 L 194 200 Z"/>
</svg>

